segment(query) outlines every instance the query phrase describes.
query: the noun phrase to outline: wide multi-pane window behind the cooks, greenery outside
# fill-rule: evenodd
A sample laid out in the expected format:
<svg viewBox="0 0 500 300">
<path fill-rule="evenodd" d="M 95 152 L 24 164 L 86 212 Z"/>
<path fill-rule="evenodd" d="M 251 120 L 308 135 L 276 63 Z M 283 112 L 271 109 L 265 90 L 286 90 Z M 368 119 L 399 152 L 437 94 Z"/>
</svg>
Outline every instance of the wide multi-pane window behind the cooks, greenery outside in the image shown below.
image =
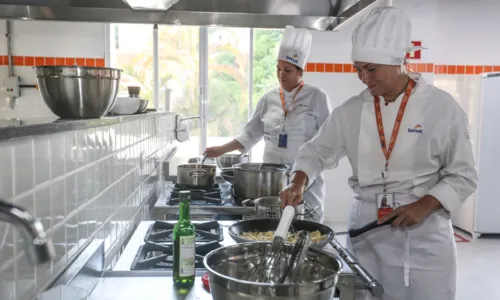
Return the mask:
<svg viewBox="0 0 500 300">
<path fill-rule="evenodd" d="M 110 64 L 123 70 L 120 96 L 128 95 L 127 86 L 138 85 L 140 96 L 154 107 L 153 49 L 158 47 L 159 107 L 165 107 L 169 93 L 172 111 L 205 116 L 205 124 L 190 122 L 190 141 L 178 144 L 172 175 L 206 146 L 237 136 L 259 99 L 278 85 L 282 30 L 160 25 L 155 31 L 153 25 L 112 24 L 109 34 Z M 263 151 L 261 141 L 252 149 L 252 161 L 262 161 Z"/>
</svg>

